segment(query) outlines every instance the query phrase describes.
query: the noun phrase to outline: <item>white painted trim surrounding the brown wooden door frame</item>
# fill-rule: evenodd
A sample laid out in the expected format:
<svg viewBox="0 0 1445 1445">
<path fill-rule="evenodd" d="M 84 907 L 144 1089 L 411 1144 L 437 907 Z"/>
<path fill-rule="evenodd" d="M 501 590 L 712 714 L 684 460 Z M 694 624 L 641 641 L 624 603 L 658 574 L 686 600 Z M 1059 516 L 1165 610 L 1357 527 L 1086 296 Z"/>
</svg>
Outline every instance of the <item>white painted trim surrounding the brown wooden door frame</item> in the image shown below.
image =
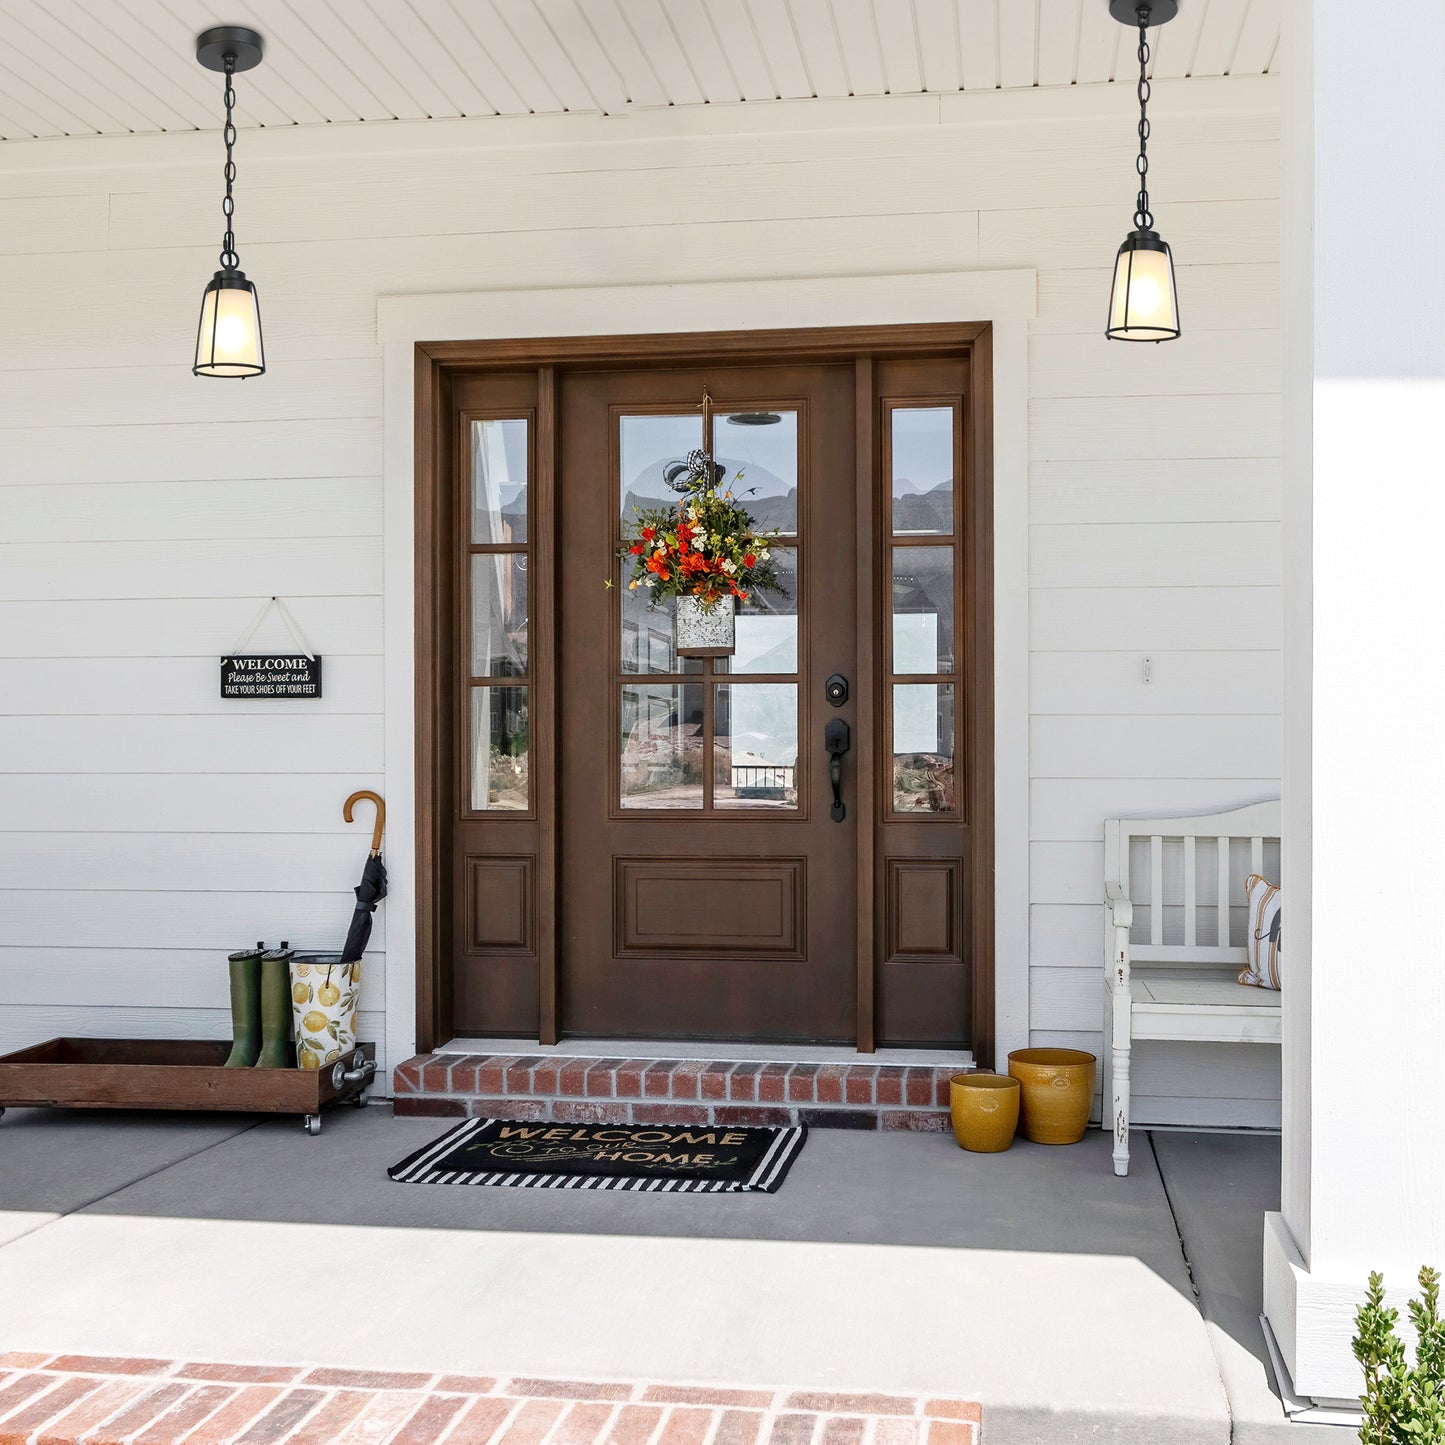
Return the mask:
<svg viewBox="0 0 1445 1445">
<path fill-rule="evenodd" d="M 991 422 L 994 447 L 994 880 L 996 957 L 993 1026 L 996 1052 L 1029 1040 L 1027 896 L 1029 896 L 1029 767 L 1027 767 L 1027 321 L 1036 314 L 1038 277 L 1032 269 L 931 272 L 881 276 L 785 277 L 773 280 L 686 282 L 571 289 L 516 289 L 434 295 L 380 296 L 377 329 L 384 353 L 384 776 L 394 821 L 387 848 L 393 863 L 387 902 L 387 974 L 384 981 L 387 1068 L 420 1045 L 444 1042 L 429 987 L 434 957 L 435 877 L 429 866 L 435 816 L 425 786 L 429 743 L 416 736 L 418 696 L 426 691 L 426 618 L 416 610 L 416 581 L 428 559 L 416 551 L 416 491 L 425 473 L 434 431 L 429 416 L 445 405 L 447 350 L 465 353 L 501 338 L 538 331 L 592 332 L 591 353 L 608 331 L 634 332 L 686 315 L 718 332 L 738 321 L 767 328 L 863 322 L 890 334 L 884 322 L 954 318 L 970 335 L 991 327 L 993 418 L 980 416 L 975 445 L 984 445 Z M 718 332 L 692 335 L 717 337 Z M 777 335 L 777 334 L 775 334 Z M 448 338 L 445 350 L 434 338 Z M 656 342 L 659 338 L 647 338 Z M 613 342 L 616 344 L 616 342 Z M 507 342 L 535 355 L 555 344 L 540 338 Z M 565 345 L 565 342 L 562 342 Z M 512 363 L 514 364 L 514 363 Z M 415 553 L 415 555 L 413 555 Z M 415 879 L 415 883 L 413 883 Z M 420 967 L 419 967 L 420 959 Z M 983 1020 L 980 1020 L 983 1023 Z"/>
</svg>

